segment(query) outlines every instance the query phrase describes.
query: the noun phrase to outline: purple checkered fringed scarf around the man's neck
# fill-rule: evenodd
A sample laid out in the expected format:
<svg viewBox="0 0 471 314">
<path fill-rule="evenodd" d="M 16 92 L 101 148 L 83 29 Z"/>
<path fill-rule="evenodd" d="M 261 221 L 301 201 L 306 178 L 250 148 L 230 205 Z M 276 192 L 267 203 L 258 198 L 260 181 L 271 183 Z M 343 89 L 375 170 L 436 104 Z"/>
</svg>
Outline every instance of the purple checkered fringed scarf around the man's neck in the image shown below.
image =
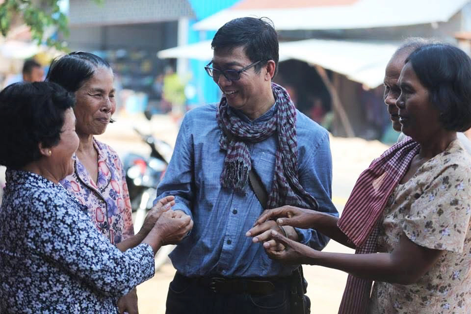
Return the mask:
<svg viewBox="0 0 471 314">
<path fill-rule="evenodd" d="M 296 139 L 296 108 L 282 86 L 271 84 L 277 109 L 266 122 L 251 125 L 231 114 L 226 98 L 219 103 L 216 120 L 221 129 L 219 146 L 226 151 L 221 185 L 244 193 L 248 173 L 252 169 L 250 152 L 246 143 L 257 143 L 273 132 L 278 135 L 278 149 L 275 157 L 273 187 L 268 195 L 268 209 L 283 205 L 317 209 L 313 196 L 304 190 L 298 179 L 298 149 Z M 226 134 L 230 133 L 231 138 Z"/>
</svg>

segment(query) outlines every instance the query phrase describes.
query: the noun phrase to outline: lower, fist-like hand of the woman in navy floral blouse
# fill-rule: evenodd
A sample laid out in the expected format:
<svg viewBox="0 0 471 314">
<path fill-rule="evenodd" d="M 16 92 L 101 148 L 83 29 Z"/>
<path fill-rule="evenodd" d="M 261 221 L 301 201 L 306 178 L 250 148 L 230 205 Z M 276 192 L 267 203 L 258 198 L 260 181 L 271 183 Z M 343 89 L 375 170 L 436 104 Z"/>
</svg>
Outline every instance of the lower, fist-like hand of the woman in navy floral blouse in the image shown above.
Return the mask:
<svg viewBox="0 0 471 314">
<path fill-rule="evenodd" d="M 162 245 L 177 244 L 192 228 L 193 220 L 181 210 L 165 211 L 154 226 L 161 235 Z"/>
</svg>

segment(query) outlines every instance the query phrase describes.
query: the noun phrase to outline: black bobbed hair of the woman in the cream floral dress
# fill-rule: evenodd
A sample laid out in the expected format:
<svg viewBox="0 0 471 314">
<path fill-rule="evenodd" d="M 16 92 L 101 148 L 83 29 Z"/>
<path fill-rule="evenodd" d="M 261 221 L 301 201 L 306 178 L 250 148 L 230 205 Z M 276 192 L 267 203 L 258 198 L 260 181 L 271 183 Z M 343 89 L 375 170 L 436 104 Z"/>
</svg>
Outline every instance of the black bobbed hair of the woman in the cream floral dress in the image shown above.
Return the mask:
<svg viewBox="0 0 471 314">
<path fill-rule="evenodd" d="M 470 57 L 454 46 L 431 44 L 412 52 L 407 62 L 428 89 L 430 102 L 439 109 L 444 128 L 449 131 L 470 129 Z"/>
</svg>

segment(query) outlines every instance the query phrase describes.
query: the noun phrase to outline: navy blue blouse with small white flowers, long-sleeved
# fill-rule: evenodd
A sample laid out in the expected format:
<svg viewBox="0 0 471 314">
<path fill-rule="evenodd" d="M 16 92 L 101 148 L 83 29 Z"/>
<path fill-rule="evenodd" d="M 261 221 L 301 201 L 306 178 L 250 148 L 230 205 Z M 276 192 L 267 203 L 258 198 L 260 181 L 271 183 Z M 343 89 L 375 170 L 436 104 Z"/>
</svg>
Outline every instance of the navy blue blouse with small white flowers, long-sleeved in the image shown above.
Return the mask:
<svg viewBox="0 0 471 314">
<path fill-rule="evenodd" d="M 125 253 L 61 185 L 7 170 L 0 208 L 0 312 L 119 313 L 116 300 L 154 275 L 148 244 Z"/>
</svg>

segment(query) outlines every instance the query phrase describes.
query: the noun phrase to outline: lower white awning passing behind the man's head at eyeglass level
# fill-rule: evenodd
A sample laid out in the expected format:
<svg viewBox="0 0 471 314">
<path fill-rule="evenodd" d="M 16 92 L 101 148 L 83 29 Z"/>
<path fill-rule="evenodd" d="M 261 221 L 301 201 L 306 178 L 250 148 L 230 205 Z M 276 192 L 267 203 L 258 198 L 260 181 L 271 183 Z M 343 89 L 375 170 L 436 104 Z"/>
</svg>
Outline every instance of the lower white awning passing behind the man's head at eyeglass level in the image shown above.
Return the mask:
<svg viewBox="0 0 471 314">
<path fill-rule="evenodd" d="M 396 50 L 392 43 L 308 39 L 280 43 L 280 61 L 297 59 L 345 75 L 369 88 L 382 84 L 386 64 Z M 162 50 L 159 58 L 211 60 L 211 41 Z"/>
</svg>

